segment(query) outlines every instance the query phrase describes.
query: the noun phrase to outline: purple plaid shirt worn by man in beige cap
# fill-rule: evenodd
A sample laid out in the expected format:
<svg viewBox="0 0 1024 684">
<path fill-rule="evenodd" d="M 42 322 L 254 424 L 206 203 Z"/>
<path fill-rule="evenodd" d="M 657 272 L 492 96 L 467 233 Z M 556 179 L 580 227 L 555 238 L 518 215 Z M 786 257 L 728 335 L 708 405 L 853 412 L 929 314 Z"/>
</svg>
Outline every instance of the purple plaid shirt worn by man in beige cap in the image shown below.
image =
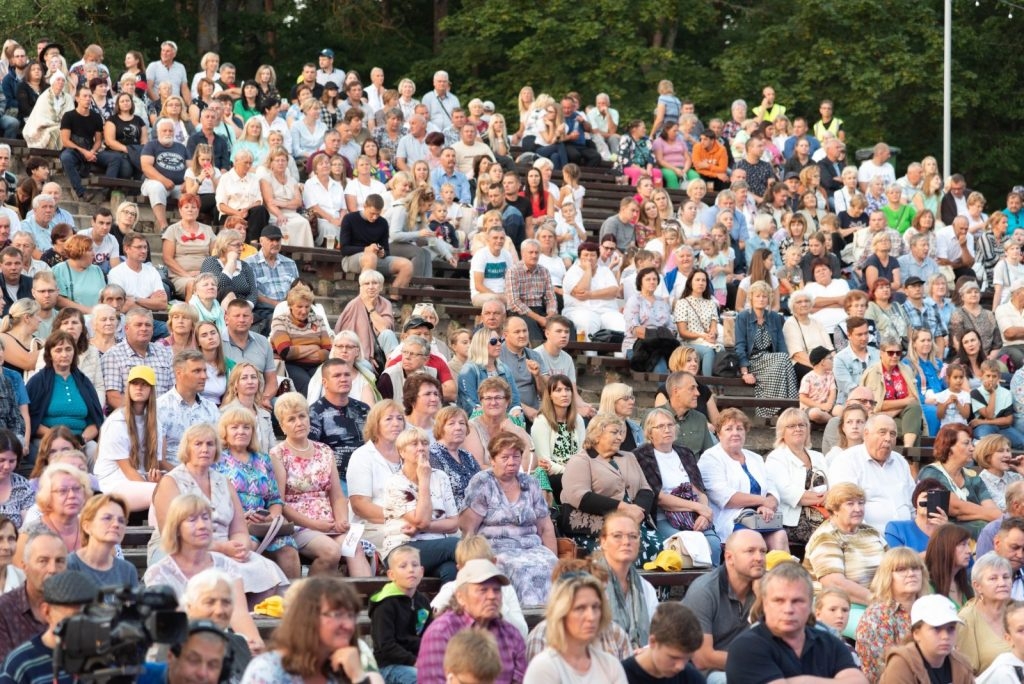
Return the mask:
<svg viewBox="0 0 1024 684">
<path fill-rule="evenodd" d="M 430 624 L 420 642 L 416 681 L 420 684 L 443 684 L 444 647 L 459 632 L 473 629 L 473 623 L 469 615 L 449 610 Z M 501 617 L 492 621 L 486 630 L 498 640 L 498 652 L 502 656 L 502 674 L 498 675 L 495 684 L 521 682 L 526 673 L 526 643 L 519 630 Z"/>
</svg>

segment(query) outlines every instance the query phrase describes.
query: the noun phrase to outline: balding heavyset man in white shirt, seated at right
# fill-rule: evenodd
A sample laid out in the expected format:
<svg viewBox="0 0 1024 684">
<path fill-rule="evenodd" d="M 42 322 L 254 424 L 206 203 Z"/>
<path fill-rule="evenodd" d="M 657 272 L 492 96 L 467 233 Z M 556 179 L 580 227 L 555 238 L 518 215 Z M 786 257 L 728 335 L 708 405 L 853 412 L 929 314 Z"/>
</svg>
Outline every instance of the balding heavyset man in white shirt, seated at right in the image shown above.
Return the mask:
<svg viewBox="0 0 1024 684">
<path fill-rule="evenodd" d="M 864 490 L 864 524 L 880 533 L 890 520 L 913 517 L 913 476 L 906 460 L 893 451 L 895 444 L 896 421 L 872 414 L 864 423 L 864 443 L 847 450 L 828 469 L 831 485 L 853 482 Z"/>
</svg>

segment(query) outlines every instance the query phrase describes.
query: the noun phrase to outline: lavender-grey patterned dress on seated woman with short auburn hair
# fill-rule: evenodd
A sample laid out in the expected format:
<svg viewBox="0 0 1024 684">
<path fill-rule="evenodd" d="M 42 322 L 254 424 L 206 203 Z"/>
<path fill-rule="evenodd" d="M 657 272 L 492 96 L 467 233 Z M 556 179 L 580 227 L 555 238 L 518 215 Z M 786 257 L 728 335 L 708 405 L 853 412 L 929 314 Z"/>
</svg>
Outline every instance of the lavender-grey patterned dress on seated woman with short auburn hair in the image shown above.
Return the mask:
<svg viewBox="0 0 1024 684">
<path fill-rule="evenodd" d="M 540 485 L 525 473 L 517 477 L 519 498 L 510 502 L 492 471 L 474 475 L 466 489 L 466 507 L 480 516 L 477 532 L 490 543 L 519 602 L 523 607 L 539 606 L 547 603 L 558 556 L 541 540 L 538 522 L 550 513 Z"/>
</svg>

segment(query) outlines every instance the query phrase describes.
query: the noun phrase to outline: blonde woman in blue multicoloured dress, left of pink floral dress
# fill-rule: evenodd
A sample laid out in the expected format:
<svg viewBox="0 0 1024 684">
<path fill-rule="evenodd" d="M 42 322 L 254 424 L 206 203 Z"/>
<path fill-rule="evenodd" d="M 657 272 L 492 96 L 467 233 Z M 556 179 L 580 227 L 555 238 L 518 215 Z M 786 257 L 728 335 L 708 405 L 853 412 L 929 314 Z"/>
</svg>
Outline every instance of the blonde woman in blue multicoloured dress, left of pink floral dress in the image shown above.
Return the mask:
<svg viewBox="0 0 1024 684">
<path fill-rule="evenodd" d="M 246 523 L 265 525 L 284 515 L 285 502 L 278 488 L 273 463 L 266 452 L 259 451 L 256 438 L 256 416 L 242 407 L 228 409 L 220 416 L 217 426 L 220 443 L 224 450 L 213 469 L 227 478 L 239 493 Z M 263 535 L 250 526 L 252 544 L 257 552 L 275 562 L 289 580 L 302 576 L 298 545 L 291 535 L 280 532 Z M 269 538 L 269 539 L 267 539 Z"/>
</svg>

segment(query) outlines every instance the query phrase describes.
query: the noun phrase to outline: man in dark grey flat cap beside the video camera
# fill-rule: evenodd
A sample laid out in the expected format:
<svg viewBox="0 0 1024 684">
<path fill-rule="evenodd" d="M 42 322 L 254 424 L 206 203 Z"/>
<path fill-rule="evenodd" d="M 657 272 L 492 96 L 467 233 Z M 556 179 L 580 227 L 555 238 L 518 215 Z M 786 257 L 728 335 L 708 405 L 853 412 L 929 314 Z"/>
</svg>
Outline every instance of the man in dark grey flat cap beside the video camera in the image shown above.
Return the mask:
<svg viewBox="0 0 1024 684">
<path fill-rule="evenodd" d="M 47 578 L 43 582 L 43 600 L 39 606 L 46 622 L 46 631 L 8 653 L 0 668 L 0 682 L 71 684 L 75 681 L 65 671 L 54 672 L 53 651 L 57 645 L 54 631 L 65 619 L 81 613 L 96 599 L 98 591 L 99 585 L 85 572 L 65 570 Z"/>
</svg>

